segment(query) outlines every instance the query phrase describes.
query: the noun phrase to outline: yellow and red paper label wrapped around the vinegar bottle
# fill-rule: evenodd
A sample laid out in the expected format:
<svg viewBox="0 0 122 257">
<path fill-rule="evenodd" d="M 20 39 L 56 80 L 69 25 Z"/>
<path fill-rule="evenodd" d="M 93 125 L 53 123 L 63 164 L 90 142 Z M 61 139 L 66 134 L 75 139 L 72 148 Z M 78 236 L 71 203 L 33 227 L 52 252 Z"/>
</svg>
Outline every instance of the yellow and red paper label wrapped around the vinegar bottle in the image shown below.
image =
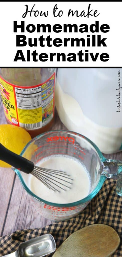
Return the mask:
<svg viewBox="0 0 122 257">
<path fill-rule="evenodd" d="M 0 76 L 0 92 L 7 120 L 26 129 L 41 128 L 54 116 L 55 73 L 42 84 L 22 87 Z"/>
</svg>

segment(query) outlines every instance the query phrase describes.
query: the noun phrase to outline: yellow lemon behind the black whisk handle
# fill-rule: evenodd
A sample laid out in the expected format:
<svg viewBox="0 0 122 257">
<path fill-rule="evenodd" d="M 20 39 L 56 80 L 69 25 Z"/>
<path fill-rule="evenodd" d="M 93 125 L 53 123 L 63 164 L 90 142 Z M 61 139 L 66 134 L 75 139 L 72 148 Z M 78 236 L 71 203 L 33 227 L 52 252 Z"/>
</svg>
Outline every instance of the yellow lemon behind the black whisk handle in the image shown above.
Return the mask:
<svg viewBox="0 0 122 257">
<path fill-rule="evenodd" d="M 0 143 L 10 151 L 20 154 L 30 140 L 31 136 L 24 128 L 9 124 L 0 125 Z M 10 168 L 11 166 L 0 160 L 0 167 Z"/>
</svg>

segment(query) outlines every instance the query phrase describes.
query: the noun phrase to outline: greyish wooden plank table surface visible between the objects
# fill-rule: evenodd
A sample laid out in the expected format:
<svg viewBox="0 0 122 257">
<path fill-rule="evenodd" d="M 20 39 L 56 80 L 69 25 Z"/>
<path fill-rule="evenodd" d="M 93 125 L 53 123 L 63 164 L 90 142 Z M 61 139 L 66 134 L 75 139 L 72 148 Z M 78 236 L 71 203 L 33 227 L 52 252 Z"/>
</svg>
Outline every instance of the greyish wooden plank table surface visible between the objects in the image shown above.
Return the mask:
<svg viewBox="0 0 122 257">
<path fill-rule="evenodd" d="M 1 97 L 0 124 L 6 124 Z M 51 129 L 65 129 L 57 112 L 55 123 Z M 122 152 L 104 154 L 104 156 L 122 160 Z M 50 223 L 50 220 L 42 217 L 33 207 L 16 173 L 12 169 L 0 167 L 0 236 L 10 234 L 18 229 L 44 227 Z"/>
</svg>

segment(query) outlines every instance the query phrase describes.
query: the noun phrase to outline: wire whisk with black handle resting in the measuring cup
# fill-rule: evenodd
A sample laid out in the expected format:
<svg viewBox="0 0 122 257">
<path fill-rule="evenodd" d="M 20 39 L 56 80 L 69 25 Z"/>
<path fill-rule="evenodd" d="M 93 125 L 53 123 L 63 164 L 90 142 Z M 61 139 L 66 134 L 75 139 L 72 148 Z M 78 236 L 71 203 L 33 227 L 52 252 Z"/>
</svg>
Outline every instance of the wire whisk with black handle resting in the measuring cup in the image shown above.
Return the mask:
<svg viewBox="0 0 122 257">
<path fill-rule="evenodd" d="M 66 190 L 71 188 L 72 178 L 64 171 L 51 170 L 34 166 L 34 163 L 26 158 L 13 153 L 0 143 L 0 160 L 7 162 L 14 168 L 21 170 L 27 174 L 32 174 L 39 179 L 45 186 L 53 191 Z M 13 169 L 14 169 L 13 168 Z"/>
</svg>

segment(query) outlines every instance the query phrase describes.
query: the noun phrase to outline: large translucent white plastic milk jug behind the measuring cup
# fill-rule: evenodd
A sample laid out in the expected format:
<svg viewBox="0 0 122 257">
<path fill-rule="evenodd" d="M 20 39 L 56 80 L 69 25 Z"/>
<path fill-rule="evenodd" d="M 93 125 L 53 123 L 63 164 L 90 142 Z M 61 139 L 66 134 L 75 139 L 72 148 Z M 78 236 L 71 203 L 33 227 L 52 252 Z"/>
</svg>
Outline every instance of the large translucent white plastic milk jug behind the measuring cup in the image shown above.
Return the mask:
<svg viewBox="0 0 122 257">
<path fill-rule="evenodd" d="M 103 153 L 122 150 L 122 69 L 59 68 L 56 108 L 63 124 Z"/>
</svg>

